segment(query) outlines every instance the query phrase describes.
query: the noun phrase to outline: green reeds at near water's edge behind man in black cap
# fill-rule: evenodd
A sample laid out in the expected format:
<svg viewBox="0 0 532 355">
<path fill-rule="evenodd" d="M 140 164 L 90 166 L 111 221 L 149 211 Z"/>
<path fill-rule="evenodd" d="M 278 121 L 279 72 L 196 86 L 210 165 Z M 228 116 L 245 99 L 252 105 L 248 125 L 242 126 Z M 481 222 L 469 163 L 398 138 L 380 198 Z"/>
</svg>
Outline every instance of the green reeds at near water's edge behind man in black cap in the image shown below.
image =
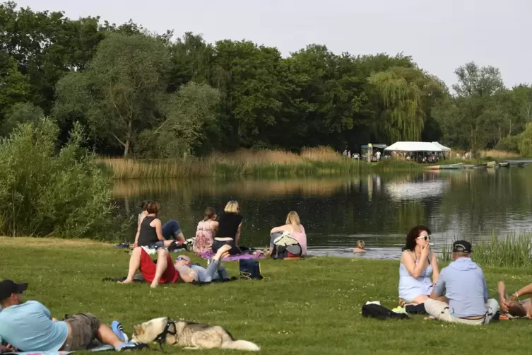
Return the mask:
<svg viewBox="0 0 532 355">
<path fill-rule="evenodd" d="M 442 248 L 442 260 L 451 261 L 451 245 Z M 532 267 L 532 234 L 509 233 L 505 237 L 493 234 L 490 240 L 473 243 L 473 260 L 481 267 Z"/>
</svg>

